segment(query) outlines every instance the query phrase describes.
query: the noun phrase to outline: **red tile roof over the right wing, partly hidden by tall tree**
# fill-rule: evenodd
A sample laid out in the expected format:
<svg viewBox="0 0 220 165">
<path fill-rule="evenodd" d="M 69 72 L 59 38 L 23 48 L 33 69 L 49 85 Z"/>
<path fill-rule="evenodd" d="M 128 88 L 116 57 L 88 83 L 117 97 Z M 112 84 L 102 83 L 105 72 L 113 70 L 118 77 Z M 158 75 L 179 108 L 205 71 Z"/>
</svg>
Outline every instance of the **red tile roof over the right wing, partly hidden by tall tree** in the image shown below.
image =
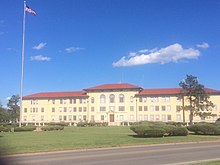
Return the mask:
<svg viewBox="0 0 220 165">
<path fill-rule="evenodd" d="M 157 88 L 157 89 L 143 89 L 138 95 L 176 95 L 179 94 L 182 88 Z M 205 88 L 209 94 L 220 94 L 219 90 Z"/>
</svg>

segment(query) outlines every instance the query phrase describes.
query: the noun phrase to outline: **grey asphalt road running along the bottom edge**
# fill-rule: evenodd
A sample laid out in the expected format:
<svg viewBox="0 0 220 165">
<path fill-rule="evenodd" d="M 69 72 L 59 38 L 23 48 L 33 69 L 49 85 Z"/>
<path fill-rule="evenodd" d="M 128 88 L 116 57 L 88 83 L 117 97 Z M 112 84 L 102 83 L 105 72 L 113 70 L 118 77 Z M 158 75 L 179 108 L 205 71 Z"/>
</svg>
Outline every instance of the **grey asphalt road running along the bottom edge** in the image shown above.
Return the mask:
<svg viewBox="0 0 220 165">
<path fill-rule="evenodd" d="M 4 159 L 10 165 L 180 165 L 220 160 L 220 141 L 20 154 Z"/>
</svg>

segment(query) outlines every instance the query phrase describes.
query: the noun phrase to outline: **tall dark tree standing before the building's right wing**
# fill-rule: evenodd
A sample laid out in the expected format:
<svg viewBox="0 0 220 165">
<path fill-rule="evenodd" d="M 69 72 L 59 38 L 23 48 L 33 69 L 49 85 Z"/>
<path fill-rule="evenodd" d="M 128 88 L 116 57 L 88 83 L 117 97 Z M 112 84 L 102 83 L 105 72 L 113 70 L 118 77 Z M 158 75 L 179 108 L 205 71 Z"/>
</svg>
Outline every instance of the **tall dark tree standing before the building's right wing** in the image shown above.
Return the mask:
<svg viewBox="0 0 220 165">
<path fill-rule="evenodd" d="M 213 103 L 209 101 L 209 95 L 204 85 L 199 84 L 197 77 L 186 75 L 186 79 L 181 81 L 179 86 L 182 87 L 180 96 L 183 100 L 189 101 L 189 104 L 183 105 L 182 109 L 189 111 L 190 125 L 193 124 L 194 116 L 200 116 L 201 119 L 212 116 Z"/>
</svg>

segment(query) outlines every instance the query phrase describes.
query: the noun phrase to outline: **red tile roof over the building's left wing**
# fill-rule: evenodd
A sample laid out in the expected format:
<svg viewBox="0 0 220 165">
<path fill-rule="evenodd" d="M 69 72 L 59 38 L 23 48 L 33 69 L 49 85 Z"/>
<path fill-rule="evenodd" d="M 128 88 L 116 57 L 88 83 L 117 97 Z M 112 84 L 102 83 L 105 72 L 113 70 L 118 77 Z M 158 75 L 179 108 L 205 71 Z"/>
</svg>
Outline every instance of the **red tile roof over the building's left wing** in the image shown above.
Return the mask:
<svg viewBox="0 0 220 165">
<path fill-rule="evenodd" d="M 23 99 L 46 99 L 46 98 L 70 98 L 70 97 L 88 97 L 86 92 L 41 92 L 28 96 L 24 96 Z"/>
</svg>

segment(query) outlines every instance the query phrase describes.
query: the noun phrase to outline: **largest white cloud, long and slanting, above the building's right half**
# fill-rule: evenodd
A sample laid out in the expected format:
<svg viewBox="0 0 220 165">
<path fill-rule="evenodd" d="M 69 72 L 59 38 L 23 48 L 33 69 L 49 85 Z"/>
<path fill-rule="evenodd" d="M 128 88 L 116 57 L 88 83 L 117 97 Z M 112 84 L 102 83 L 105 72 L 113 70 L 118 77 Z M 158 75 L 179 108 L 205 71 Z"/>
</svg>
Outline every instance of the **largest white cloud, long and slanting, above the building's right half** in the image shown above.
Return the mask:
<svg viewBox="0 0 220 165">
<path fill-rule="evenodd" d="M 148 51 L 148 53 L 141 52 L 138 51 L 135 56 L 124 56 L 112 65 L 114 67 L 122 67 L 151 63 L 165 64 L 170 62 L 180 62 L 184 59 L 197 59 L 200 56 L 199 50 L 193 48 L 184 49 L 182 45 L 178 43 L 161 49 L 152 49 Z"/>
</svg>

